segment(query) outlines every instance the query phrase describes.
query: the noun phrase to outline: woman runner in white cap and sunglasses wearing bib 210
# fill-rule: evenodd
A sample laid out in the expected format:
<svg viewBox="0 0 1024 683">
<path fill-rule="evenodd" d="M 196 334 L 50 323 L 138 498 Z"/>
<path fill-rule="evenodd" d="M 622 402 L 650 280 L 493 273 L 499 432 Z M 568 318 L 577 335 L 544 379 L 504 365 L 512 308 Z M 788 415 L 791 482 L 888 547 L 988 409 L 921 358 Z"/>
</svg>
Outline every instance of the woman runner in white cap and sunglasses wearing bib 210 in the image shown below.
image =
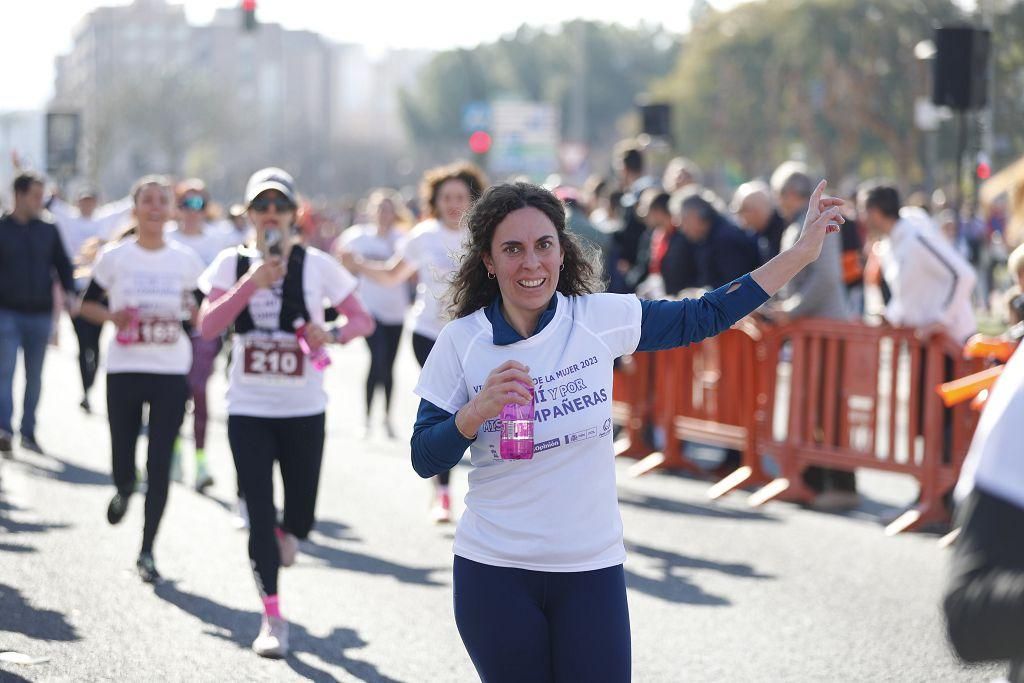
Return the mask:
<svg viewBox="0 0 1024 683">
<path fill-rule="evenodd" d="M 355 295 L 356 280 L 328 254 L 294 238 L 298 205 L 292 176 L 265 168 L 246 185 L 255 248 L 220 253 L 203 273 L 207 293 L 200 313 L 206 339 L 233 326 L 227 388 L 227 438 L 249 511 L 249 558 L 263 599 L 257 654 L 288 653 L 288 623 L 281 615 L 278 572 L 291 566 L 299 539 L 312 529 L 324 457 L 327 393 L 324 369 L 311 353 L 373 332 L 374 322 Z M 327 328 L 325 307 L 345 324 Z M 278 525 L 273 465 L 285 486 Z"/>
</svg>

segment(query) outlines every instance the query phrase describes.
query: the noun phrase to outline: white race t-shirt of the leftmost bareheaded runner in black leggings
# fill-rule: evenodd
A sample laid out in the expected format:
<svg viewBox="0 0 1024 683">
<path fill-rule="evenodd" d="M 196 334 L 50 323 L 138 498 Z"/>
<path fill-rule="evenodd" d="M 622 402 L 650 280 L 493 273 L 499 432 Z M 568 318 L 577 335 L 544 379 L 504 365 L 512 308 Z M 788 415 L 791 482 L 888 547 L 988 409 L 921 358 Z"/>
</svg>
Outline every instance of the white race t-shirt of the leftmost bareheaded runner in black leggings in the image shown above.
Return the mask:
<svg viewBox="0 0 1024 683">
<path fill-rule="evenodd" d="M 142 249 L 134 239 L 108 245 L 92 266 L 92 279 L 106 290 L 112 311 L 138 308 L 136 341 L 112 339 L 106 372 L 184 375 L 191 367 L 191 343 L 181 327 L 203 272 L 203 261 L 186 247 L 165 243 Z"/>
</svg>

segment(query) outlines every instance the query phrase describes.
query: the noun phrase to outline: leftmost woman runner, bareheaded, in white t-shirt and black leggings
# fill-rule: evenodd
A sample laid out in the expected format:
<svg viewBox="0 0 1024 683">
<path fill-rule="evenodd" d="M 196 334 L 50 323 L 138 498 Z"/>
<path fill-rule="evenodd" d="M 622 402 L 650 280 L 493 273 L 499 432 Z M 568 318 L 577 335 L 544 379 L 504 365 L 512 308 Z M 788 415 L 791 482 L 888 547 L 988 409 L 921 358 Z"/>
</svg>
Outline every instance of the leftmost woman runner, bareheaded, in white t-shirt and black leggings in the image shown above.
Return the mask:
<svg viewBox="0 0 1024 683">
<path fill-rule="evenodd" d="M 82 315 L 117 326 L 106 355 L 106 414 L 117 493 L 106 519 L 117 524 L 135 488 L 135 443 L 142 407 L 150 405 L 145 522 L 136 568 L 143 581 L 160 579 L 153 544 L 167 504 L 171 450 L 184 418 L 191 346 L 183 324 L 196 310 L 194 292 L 203 262 L 190 249 L 164 240 L 173 193 L 161 176 L 145 176 L 131 194 L 137 221 L 132 234 L 111 244 L 92 266 Z"/>
</svg>

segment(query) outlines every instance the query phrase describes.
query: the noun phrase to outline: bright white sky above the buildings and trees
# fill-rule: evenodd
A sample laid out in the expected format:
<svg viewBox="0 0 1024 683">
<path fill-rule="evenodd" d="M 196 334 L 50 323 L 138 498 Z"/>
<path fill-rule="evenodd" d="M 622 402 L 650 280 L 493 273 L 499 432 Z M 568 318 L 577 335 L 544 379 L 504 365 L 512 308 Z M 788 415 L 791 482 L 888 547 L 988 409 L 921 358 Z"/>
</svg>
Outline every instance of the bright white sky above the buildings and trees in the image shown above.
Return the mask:
<svg viewBox="0 0 1024 683">
<path fill-rule="evenodd" d="M 727 9 L 743 0 L 712 0 Z M 583 17 L 636 26 L 642 18 L 686 31 L 692 0 L 629 2 L 595 0 L 480 0 L 400 2 L 371 0 L 258 0 L 257 15 L 289 29 L 306 29 L 344 43 L 387 48 L 446 49 L 495 40 L 521 24 L 555 26 Z M 171 0 L 183 4 L 191 24 L 206 24 L 218 7 L 241 0 Z M 131 0 L 0 0 L 0 111 L 42 109 L 53 92 L 53 60 L 67 52 L 78 20 L 98 6 Z"/>
</svg>

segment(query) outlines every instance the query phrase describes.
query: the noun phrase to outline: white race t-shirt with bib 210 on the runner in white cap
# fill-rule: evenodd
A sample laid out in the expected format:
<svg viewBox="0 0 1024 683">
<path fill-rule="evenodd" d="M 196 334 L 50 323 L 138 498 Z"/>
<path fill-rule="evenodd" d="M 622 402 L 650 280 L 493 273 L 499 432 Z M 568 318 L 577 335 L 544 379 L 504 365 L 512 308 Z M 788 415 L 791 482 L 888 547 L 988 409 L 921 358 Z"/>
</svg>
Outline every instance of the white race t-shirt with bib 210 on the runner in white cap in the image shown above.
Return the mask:
<svg viewBox="0 0 1024 683">
<path fill-rule="evenodd" d="M 225 249 L 200 279 L 200 288 L 229 290 L 237 282 L 238 249 Z M 259 252 L 248 250 L 251 266 L 259 265 Z M 355 291 L 356 280 L 324 252 L 307 247 L 302 268 L 302 291 L 309 322 L 324 325 L 324 309 L 337 306 Z M 269 289 L 256 290 L 249 313 L 256 329 L 231 339 L 228 369 L 227 413 L 256 418 L 296 418 L 317 415 L 327 408 L 324 372 L 302 355 L 294 332 L 281 329 L 284 280 Z"/>
</svg>

